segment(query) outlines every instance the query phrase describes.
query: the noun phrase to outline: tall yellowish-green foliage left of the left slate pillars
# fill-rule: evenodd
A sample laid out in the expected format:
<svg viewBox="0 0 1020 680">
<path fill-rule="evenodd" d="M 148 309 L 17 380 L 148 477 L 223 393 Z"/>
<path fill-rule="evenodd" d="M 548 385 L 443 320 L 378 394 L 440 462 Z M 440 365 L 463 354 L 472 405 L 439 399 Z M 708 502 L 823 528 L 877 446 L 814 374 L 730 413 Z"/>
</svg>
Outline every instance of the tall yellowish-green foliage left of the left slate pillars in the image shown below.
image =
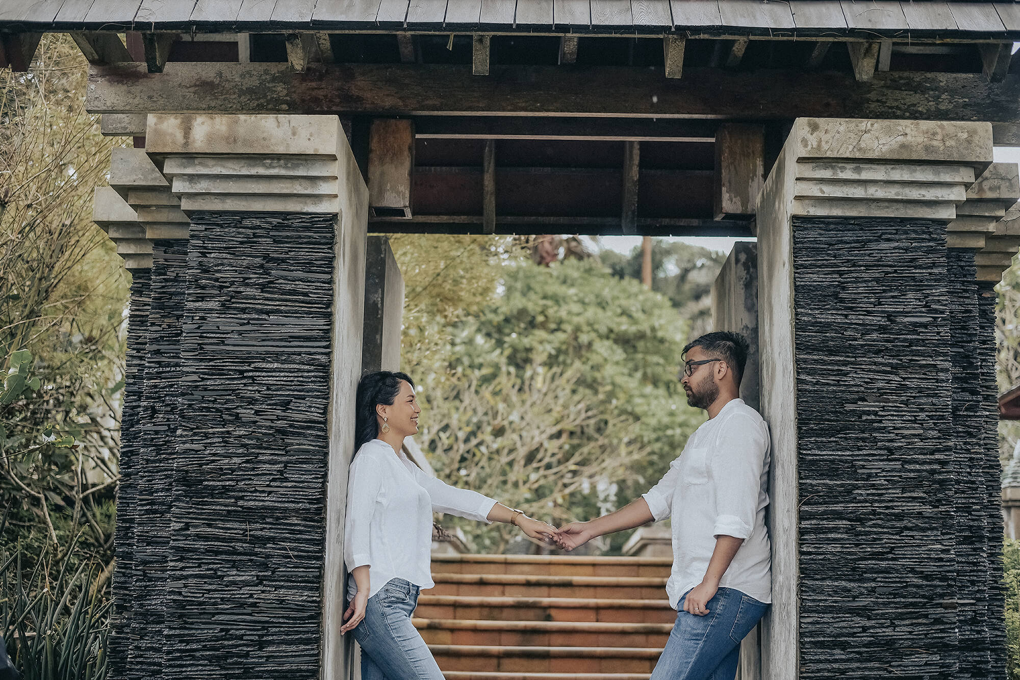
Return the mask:
<svg viewBox="0 0 1020 680">
<path fill-rule="evenodd" d="M 87 64 L 46 36 L 0 71 L 0 541 L 112 561 L 126 276 L 92 222 L 112 141 L 85 110 Z M 84 542 L 76 542 L 84 532 Z M 63 556 L 59 556 L 62 558 Z M 90 558 L 91 559 L 91 558 Z M 59 560 L 58 560 L 59 561 Z M 76 566 L 74 567 L 76 569 Z"/>
</svg>

